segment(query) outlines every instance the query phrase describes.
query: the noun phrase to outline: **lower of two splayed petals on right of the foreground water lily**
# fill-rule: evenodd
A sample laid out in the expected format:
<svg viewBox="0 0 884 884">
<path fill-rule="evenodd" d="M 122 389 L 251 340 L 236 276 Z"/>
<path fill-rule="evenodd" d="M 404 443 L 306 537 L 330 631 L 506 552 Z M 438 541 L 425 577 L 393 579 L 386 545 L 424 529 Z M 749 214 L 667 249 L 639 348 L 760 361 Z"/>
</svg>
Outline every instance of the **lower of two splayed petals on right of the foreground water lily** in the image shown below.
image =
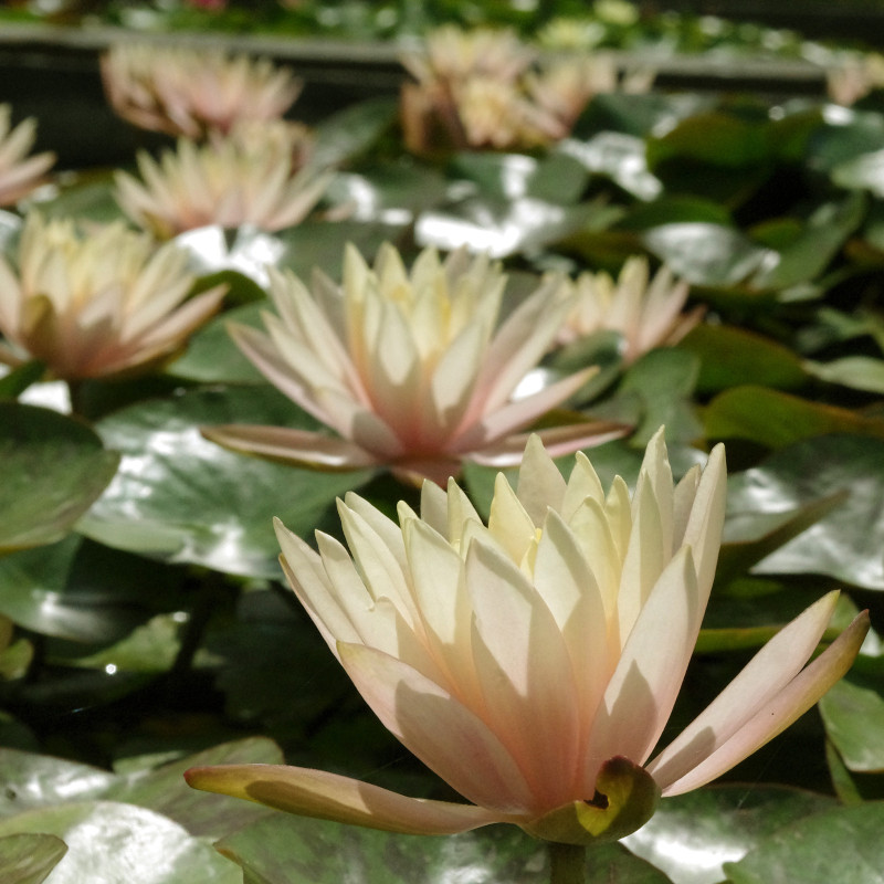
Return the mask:
<svg viewBox="0 0 884 884">
<path fill-rule="evenodd" d="M 820 656 L 717 750 L 681 779 L 665 781 L 663 794 L 681 794 L 704 786 L 782 733 L 848 672 L 860 652 L 869 625 L 869 613 L 863 611 Z"/>
</svg>

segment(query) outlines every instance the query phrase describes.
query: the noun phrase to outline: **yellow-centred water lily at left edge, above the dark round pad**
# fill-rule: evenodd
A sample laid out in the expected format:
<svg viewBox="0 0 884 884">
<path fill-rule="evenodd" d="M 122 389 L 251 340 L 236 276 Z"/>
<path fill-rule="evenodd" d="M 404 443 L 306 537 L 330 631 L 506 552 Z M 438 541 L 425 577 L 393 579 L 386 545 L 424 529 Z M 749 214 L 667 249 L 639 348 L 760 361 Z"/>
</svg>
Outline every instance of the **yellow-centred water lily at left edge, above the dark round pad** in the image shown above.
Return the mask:
<svg viewBox="0 0 884 884">
<path fill-rule="evenodd" d="M 218 308 L 223 286 L 187 299 L 194 275 L 173 245 L 122 222 L 82 233 L 71 219 L 29 214 L 18 272 L 0 257 L 0 332 L 57 378 L 104 377 L 144 367 L 180 348 Z"/>
</svg>

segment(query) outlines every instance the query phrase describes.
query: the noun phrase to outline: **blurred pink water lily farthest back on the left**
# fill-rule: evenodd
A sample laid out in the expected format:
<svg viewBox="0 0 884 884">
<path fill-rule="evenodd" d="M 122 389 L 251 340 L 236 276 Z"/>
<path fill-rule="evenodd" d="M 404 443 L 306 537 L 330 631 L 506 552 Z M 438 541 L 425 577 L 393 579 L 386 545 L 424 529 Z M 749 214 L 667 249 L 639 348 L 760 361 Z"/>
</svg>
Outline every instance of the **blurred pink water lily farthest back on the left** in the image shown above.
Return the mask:
<svg viewBox="0 0 884 884">
<path fill-rule="evenodd" d="M 124 42 L 102 56 L 114 110 L 145 129 L 201 138 L 244 119 L 281 118 L 302 84 L 267 59 L 218 49 Z"/>
</svg>

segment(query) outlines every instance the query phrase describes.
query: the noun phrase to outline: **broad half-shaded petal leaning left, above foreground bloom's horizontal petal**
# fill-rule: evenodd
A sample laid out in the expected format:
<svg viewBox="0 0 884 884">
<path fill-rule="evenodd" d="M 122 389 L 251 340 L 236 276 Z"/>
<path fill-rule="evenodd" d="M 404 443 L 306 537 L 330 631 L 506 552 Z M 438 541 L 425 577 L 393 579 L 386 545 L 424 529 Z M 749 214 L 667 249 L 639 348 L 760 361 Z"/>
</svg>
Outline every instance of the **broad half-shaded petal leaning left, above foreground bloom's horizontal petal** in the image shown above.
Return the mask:
<svg viewBox="0 0 884 884">
<path fill-rule="evenodd" d="M 507 749 L 448 691 L 380 651 L 340 644 L 338 653 L 383 726 L 453 789 L 503 812 L 532 807 L 532 790 Z"/>
</svg>

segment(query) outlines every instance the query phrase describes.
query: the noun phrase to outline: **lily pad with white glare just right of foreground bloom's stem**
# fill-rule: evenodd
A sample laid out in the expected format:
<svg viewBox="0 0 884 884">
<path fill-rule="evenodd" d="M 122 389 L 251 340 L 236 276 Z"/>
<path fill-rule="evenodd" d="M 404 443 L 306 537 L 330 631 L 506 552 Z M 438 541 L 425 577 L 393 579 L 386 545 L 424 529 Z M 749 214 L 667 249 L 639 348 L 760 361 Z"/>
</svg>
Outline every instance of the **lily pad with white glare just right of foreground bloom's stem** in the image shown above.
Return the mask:
<svg viewBox="0 0 884 884">
<path fill-rule="evenodd" d="M 827 796 L 785 787 L 716 786 L 664 799 L 650 822 L 623 843 L 675 884 L 718 884 L 724 863 L 833 804 Z"/>
</svg>

